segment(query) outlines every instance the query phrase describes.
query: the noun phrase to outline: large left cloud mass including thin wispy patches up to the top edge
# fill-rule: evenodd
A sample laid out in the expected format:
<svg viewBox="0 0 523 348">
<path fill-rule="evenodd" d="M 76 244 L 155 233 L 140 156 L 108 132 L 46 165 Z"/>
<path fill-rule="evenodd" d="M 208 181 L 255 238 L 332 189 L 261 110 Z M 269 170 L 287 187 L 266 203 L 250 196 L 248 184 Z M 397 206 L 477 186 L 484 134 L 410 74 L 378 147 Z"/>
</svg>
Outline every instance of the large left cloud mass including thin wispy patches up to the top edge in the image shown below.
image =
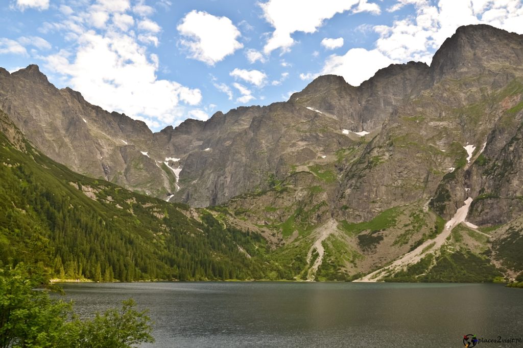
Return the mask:
<svg viewBox="0 0 523 348">
<path fill-rule="evenodd" d="M 62 76 L 64 83 L 90 103 L 141 119 L 155 128 L 177 124 L 187 115 L 208 118 L 199 107 L 194 108 L 202 100 L 199 89 L 157 77 L 160 59 L 146 45 L 158 44 L 155 33 L 161 28 L 143 17 L 152 13 L 150 9 L 131 8 L 127 0 L 97 0 L 83 8 L 76 6 L 80 7 L 75 7 L 74 15 L 64 8 L 62 13 L 70 13 L 66 19 L 47 23 L 41 29 L 60 32 L 73 40 L 67 50 L 42 57 L 46 67 Z M 132 16 L 137 12 L 142 17 Z M 92 20 L 96 13 L 106 14 L 107 19 Z M 33 45 L 45 46 L 32 41 Z"/>
</svg>

